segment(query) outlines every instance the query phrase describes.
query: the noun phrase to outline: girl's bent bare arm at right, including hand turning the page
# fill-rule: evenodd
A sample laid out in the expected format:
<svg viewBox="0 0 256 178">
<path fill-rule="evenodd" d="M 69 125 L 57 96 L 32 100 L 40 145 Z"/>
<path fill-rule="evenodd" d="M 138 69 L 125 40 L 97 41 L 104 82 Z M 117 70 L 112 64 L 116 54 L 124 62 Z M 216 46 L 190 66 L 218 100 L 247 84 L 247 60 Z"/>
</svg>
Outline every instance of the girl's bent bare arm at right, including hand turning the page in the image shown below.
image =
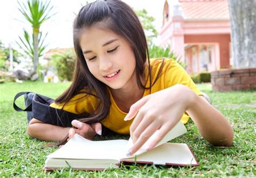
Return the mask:
<svg viewBox="0 0 256 178">
<path fill-rule="evenodd" d="M 168 102 L 166 102 L 168 101 Z M 147 139 L 159 132 L 144 149 L 150 150 L 164 138 L 187 111 L 201 135 L 215 146 L 231 146 L 233 129 L 226 118 L 185 85 L 174 85 L 140 99 L 124 120 L 134 118 L 130 133 L 134 142 L 127 155 L 137 152 Z"/>
</svg>

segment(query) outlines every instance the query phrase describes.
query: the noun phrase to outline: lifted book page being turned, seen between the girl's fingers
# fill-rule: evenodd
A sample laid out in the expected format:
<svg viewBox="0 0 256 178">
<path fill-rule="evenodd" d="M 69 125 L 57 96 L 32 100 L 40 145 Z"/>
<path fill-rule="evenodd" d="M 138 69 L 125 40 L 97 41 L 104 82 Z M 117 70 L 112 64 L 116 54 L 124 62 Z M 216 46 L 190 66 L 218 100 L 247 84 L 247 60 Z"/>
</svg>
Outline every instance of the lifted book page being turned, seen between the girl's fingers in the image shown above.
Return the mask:
<svg viewBox="0 0 256 178">
<path fill-rule="evenodd" d="M 140 148 L 134 155 L 140 155 L 142 153 L 145 153 L 147 152 L 145 148 L 145 146 L 151 142 L 151 140 L 156 136 L 157 132 L 159 132 L 159 130 L 157 130 L 150 138 L 149 140 L 147 140 L 144 145 L 142 146 L 142 148 Z M 163 145 L 163 143 L 166 143 L 167 141 L 170 141 L 174 138 L 177 138 L 178 136 L 180 135 L 183 135 L 187 132 L 187 129 L 186 127 L 184 126 L 184 124 L 179 121 L 172 129 L 171 131 L 169 131 L 165 136 L 164 138 L 154 147 L 158 147 L 160 145 Z M 133 142 L 132 142 L 132 139 L 130 138 L 128 143 L 127 143 L 127 147 L 126 147 L 126 152 L 123 154 L 123 157 L 122 158 L 131 158 L 133 156 L 129 156 L 127 157 L 126 156 L 126 153 L 128 152 L 128 150 L 133 146 Z"/>
</svg>

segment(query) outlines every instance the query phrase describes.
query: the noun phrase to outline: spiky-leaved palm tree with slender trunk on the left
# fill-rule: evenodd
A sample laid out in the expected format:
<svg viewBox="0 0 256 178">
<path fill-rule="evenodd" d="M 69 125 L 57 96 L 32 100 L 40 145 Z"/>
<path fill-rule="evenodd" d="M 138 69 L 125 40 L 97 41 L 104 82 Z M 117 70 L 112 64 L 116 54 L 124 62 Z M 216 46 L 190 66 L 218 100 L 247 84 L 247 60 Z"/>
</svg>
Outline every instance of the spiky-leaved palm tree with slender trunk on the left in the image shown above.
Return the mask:
<svg viewBox="0 0 256 178">
<path fill-rule="evenodd" d="M 26 54 L 29 54 L 30 57 L 33 57 L 33 71 L 32 74 L 37 73 L 38 66 L 38 57 L 42 55 L 43 50 L 45 49 L 45 45 L 43 45 L 43 41 L 46 37 L 42 38 L 42 32 L 40 32 L 41 25 L 51 18 L 53 14 L 51 14 L 51 10 L 53 6 L 50 6 L 50 2 L 40 1 L 40 0 L 28 0 L 25 3 L 19 3 L 18 10 L 22 13 L 25 19 L 32 26 L 32 43 L 28 34 L 28 31 L 24 30 L 24 38 L 21 37 L 19 39 L 22 42 L 22 45 L 19 44 L 20 47 L 23 46 L 23 51 Z M 31 56 L 31 54 L 33 54 Z"/>
</svg>

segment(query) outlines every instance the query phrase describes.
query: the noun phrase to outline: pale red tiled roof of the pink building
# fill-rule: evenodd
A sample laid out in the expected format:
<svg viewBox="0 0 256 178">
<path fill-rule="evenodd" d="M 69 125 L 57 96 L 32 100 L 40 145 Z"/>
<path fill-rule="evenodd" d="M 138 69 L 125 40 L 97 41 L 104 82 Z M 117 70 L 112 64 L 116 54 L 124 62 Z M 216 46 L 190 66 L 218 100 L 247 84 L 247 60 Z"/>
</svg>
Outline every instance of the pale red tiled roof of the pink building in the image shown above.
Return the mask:
<svg viewBox="0 0 256 178">
<path fill-rule="evenodd" d="M 186 20 L 230 19 L 227 0 L 179 0 Z"/>
</svg>

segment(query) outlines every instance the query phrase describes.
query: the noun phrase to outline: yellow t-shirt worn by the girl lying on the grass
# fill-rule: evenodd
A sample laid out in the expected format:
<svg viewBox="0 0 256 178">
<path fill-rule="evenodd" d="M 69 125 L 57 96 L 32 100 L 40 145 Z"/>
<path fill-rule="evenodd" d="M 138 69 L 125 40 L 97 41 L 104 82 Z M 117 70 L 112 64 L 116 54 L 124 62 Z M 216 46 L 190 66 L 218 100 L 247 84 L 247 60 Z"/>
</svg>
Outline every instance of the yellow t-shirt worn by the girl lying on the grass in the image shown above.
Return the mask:
<svg viewBox="0 0 256 178">
<path fill-rule="evenodd" d="M 156 79 L 158 71 L 160 69 L 162 62 L 162 58 L 157 59 L 150 59 L 151 70 L 152 70 L 152 82 Z M 147 71 L 146 71 L 147 72 Z M 198 95 L 203 95 L 193 83 L 190 76 L 188 76 L 187 72 L 181 67 L 175 60 L 173 59 L 165 59 L 165 64 L 162 70 L 161 76 L 158 78 L 156 83 L 151 88 L 151 93 L 158 92 L 165 88 L 171 87 L 176 84 L 183 84 L 191 88 L 193 92 Z M 147 80 L 146 86 L 149 87 L 150 80 Z M 108 90 L 110 92 L 110 90 Z M 145 90 L 143 97 L 150 94 L 150 90 Z M 89 96 L 86 99 L 80 99 L 85 94 L 77 94 L 73 97 L 63 108 L 60 105 L 55 104 L 54 102 L 50 105 L 51 107 L 55 108 L 62 108 L 65 111 L 75 113 L 75 114 L 82 114 L 84 112 L 91 113 L 95 111 L 97 100 L 93 96 Z M 112 94 L 110 92 L 110 100 L 111 100 L 111 107 L 110 112 L 107 117 L 100 121 L 105 127 L 111 129 L 112 131 L 120 134 L 129 134 L 130 133 L 130 126 L 132 124 L 132 120 L 124 121 L 124 118 L 127 113 L 121 111 L 116 102 L 114 101 Z M 183 114 L 181 121 L 185 124 L 188 119 L 189 115 Z"/>
</svg>

